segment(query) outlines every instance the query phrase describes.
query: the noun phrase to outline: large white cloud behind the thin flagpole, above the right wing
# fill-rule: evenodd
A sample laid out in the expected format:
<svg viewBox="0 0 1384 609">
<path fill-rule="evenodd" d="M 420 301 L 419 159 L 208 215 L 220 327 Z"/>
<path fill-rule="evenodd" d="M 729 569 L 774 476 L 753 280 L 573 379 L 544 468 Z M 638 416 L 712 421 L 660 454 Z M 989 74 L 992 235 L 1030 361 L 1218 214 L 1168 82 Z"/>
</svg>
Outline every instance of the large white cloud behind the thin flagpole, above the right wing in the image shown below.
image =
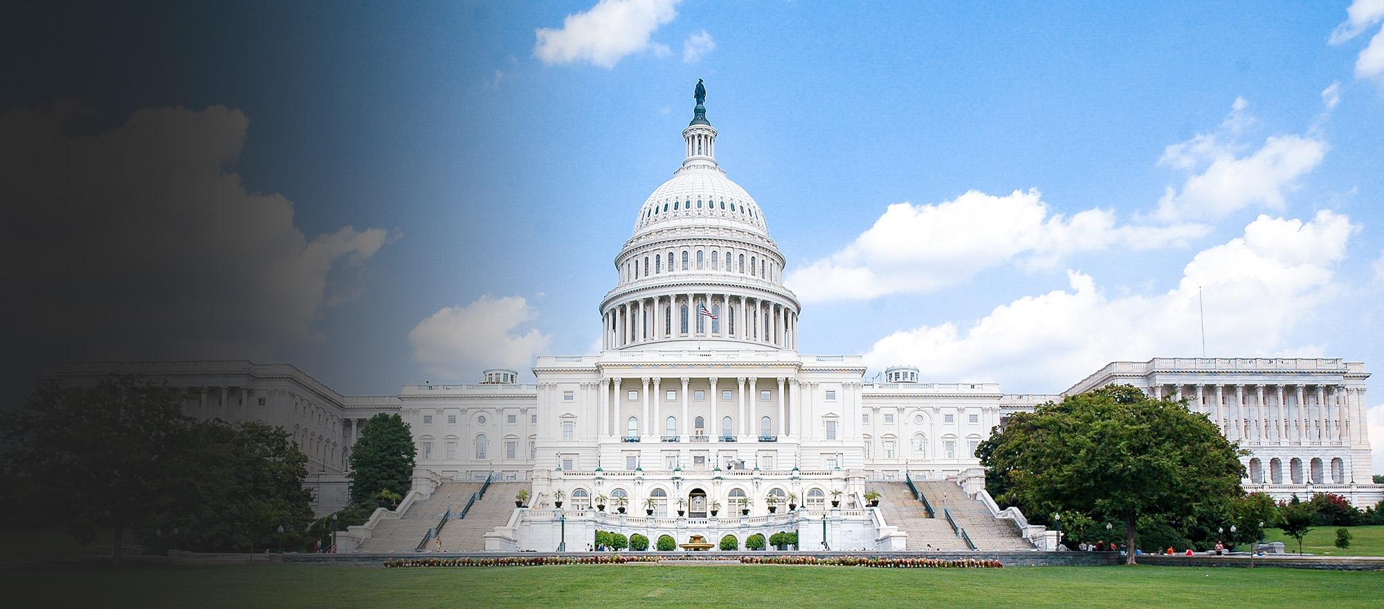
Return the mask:
<svg viewBox="0 0 1384 609">
<path fill-rule="evenodd" d="M 1334 266 L 1358 228 L 1329 210 L 1306 223 L 1259 216 L 1241 237 L 1197 253 L 1168 292 L 1113 298 L 1092 277 L 1068 271 L 1068 289 L 1001 304 L 967 327 L 894 332 L 865 361 L 876 370 L 908 363 L 931 378 L 999 381 L 1009 390 L 1062 390 L 1078 381 L 1074 370 L 1200 353 L 1199 288 L 1208 354 L 1316 354 L 1289 336 L 1336 293 Z"/>
</svg>

